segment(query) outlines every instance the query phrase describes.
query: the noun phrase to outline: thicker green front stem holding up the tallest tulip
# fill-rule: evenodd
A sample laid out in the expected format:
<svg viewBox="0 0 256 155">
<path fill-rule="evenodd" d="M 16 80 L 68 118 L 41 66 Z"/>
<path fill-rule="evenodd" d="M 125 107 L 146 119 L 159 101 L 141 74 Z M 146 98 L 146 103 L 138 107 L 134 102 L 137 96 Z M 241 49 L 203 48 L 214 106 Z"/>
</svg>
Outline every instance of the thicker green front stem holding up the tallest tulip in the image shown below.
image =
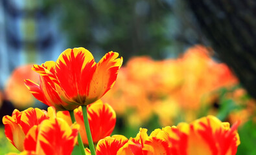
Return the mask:
<svg viewBox="0 0 256 155">
<path fill-rule="evenodd" d="M 91 130 L 89 127 L 89 121 L 87 116 L 87 105 L 82 105 L 82 111 L 84 116 L 84 126 L 86 127 L 86 135 L 89 143 L 89 149 L 91 150 L 91 155 L 96 155 L 94 145 L 93 145 L 93 138 L 91 138 Z"/>
</svg>

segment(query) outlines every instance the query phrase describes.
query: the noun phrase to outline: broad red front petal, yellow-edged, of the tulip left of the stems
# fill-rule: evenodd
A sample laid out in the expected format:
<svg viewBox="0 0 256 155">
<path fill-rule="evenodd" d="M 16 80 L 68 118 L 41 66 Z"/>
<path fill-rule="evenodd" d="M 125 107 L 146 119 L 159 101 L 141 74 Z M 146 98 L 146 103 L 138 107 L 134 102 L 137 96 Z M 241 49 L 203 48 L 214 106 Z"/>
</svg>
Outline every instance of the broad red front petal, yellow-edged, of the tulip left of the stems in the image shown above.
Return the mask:
<svg viewBox="0 0 256 155">
<path fill-rule="evenodd" d="M 69 127 L 61 118 L 47 119 L 38 133 L 38 154 L 71 154 L 77 140 L 79 126 Z"/>
</svg>

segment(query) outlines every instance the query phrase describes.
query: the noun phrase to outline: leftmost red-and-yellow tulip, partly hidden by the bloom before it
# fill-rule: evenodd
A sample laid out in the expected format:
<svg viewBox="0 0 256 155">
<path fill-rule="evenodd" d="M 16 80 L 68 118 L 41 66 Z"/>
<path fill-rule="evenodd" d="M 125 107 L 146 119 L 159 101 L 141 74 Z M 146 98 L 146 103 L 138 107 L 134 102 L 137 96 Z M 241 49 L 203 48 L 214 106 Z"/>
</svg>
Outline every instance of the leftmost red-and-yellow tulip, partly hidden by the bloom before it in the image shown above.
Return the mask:
<svg viewBox="0 0 256 155">
<path fill-rule="evenodd" d="M 3 117 L 6 138 L 18 150 L 22 151 L 26 134 L 34 125 L 39 125 L 45 119 L 49 119 L 49 115 L 45 110 L 28 108 L 19 112 L 16 109 L 12 112 L 12 116 Z"/>
</svg>

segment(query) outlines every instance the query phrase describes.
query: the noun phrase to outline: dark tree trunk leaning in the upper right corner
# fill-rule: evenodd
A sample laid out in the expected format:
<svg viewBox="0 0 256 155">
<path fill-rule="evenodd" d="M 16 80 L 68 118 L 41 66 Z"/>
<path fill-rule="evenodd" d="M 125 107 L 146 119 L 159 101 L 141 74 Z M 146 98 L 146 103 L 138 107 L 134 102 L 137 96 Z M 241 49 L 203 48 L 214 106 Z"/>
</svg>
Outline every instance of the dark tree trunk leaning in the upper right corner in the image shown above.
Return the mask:
<svg viewBox="0 0 256 155">
<path fill-rule="evenodd" d="M 256 1 L 185 1 L 220 59 L 256 98 Z"/>
</svg>

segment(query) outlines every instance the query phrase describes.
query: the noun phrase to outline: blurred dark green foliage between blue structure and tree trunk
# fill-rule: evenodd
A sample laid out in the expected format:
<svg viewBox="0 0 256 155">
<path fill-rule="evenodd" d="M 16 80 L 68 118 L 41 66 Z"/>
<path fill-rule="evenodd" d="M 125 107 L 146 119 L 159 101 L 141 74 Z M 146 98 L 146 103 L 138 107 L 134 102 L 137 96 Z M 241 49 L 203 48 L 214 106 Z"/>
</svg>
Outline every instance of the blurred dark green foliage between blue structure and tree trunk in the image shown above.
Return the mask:
<svg viewBox="0 0 256 155">
<path fill-rule="evenodd" d="M 176 1 L 64 0 L 44 5 L 49 16 L 60 14 L 68 47 L 86 47 L 97 54 L 113 50 L 124 61 L 141 55 L 176 57 L 198 37 L 188 38 L 191 28 L 180 25 Z"/>
</svg>

